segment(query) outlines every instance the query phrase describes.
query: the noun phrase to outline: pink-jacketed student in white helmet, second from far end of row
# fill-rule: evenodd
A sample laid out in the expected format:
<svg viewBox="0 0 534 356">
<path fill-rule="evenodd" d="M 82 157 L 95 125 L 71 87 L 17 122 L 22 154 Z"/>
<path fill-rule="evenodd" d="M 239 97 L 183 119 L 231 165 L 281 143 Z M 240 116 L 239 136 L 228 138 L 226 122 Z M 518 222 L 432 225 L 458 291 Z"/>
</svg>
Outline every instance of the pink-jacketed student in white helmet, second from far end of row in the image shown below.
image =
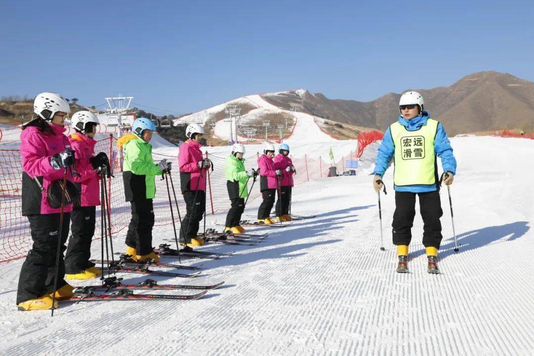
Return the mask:
<svg viewBox="0 0 534 356">
<path fill-rule="evenodd" d="M 272 205 L 278 189 L 278 179 L 282 176 L 281 165 L 273 162 L 274 145 L 266 142 L 263 154 L 258 157 L 258 169 L 260 170 L 260 192 L 263 201 L 258 209 L 258 223 L 265 225 L 274 224 L 270 218 Z"/>
</svg>

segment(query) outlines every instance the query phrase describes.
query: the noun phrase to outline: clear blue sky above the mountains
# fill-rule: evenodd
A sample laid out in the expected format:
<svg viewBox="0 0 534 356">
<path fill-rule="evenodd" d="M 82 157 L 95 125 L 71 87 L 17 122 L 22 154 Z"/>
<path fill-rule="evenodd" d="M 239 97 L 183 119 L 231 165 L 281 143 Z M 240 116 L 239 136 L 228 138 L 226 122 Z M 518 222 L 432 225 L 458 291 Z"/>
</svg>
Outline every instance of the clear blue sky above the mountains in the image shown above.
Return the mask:
<svg viewBox="0 0 534 356">
<path fill-rule="evenodd" d="M 306 88 L 373 100 L 482 70 L 534 81 L 533 2 L 2 3 L 0 96 L 189 113 Z"/>
</svg>

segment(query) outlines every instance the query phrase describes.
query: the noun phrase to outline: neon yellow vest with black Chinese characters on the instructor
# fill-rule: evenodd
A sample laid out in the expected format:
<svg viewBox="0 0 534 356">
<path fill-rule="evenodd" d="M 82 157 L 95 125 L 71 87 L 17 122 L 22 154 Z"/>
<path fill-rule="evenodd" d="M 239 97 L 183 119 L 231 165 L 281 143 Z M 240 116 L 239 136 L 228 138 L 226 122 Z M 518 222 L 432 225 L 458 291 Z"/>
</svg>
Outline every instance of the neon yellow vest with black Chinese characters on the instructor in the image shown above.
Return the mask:
<svg viewBox="0 0 534 356">
<path fill-rule="evenodd" d="M 434 139 L 437 124 L 436 120 L 429 118 L 427 124 L 417 131 L 408 131 L 398 122 L 389 126 L 395 145 L 393 180 L 396 186 L 436 184 Z"/>
</svg>

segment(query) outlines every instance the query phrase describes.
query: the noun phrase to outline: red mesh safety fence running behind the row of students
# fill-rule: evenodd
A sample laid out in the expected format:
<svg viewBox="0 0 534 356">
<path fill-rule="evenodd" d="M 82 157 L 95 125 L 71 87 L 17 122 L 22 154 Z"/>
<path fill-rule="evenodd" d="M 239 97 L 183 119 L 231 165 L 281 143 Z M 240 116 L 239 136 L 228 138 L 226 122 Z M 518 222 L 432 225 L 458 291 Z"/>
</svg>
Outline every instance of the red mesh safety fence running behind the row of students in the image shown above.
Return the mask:
<svg viewBox="0 0 534 356">
<path fill-rule="evenodd" d="M 375 137 L 375 136 L 373 136 Z M 376 136 L 378 137 L 378 136 Z M 363 152 L 364 144 L 368 145 L 372 141 L 365 139 L 361 144 L 358 143 L 358 152 L 360 147 Z M 130 222 L 130 203 L 124 199 L 124 188 L 122 182 L 122 151 L 117 148 L 116 139 L 110 136 L 108 139 L 100 140 L 95 146 L 95 152 L 106 152 L 112 164 L 114 178 L 108 179 L 108 201 L 111 212 L 111 230 L 116 234 L 128 227 Z M 351 152 L 349 155 L 342 157 L 336 162 L 328 162 L 323 157 L 311 158 L 304 156 L 293 159 L 293 165 L 296 168 L 294 176 L 295 185 L 301 183 L 329 177 L 329 167 L 334 166 L 337 173 L 341 174 L 345 167 L 345 161 L 354 159 L 358 152 Z M 230 207 L 228 193 L 226 191 L 226 178 L 224 172 L 224 159 L 213 154 L 206 154 L 213 162 L 214 171 L 203 177 L 206 179 L 206 213 L 213 214 L 217 211 L 226 211 Z M 361 154 L 360 154 L 361 155 Z M 167 156 L 154 153 L 154 162 L 166 158 L 172 162 L 172 182 L 177 194 L 178 206 L 182 218 L 185 213 L 185 202 L 182 199 L 180 190 L 180 179 L 178 173 L 178 157 Z M 248 169 L 257 167 L 258 154 L 250 154 L 245 157 L 245 167 Z M 328 159 L 328 157 L 326 157 Z M 30 249 L 32 239 L 29 231 L 29 224 L 26 217 L 21 215 L 21 189 L 22 189 L 22 168 L 21 157 L 18 150 L 0 150 L 0 262 L 6 262 L 13 259 L 25 257 Z M 155 225 L 168 225 L 172 223 L 169 209 L 169 197 L 165 180 L 161 177 L 155 177 L 156 195 L 154 197 L 154 214 Z M 248 186 L 252 185 L 252 180 Z M 260 183 L 256 181 L 254 189 L 250 194 L 249 200 L 252 201 L 260 195 Z M 170 187 L 170 181 L 169 181 Z M 174 197 L 171 200 L 175 220 L 178 221 L 178 214 L 174 205 Z M 95 239 L 100 238 L 100 209 L 97 209 L 97 226 Z M 177 226 L 177 228 L 179 225 Z"/>
</svg>

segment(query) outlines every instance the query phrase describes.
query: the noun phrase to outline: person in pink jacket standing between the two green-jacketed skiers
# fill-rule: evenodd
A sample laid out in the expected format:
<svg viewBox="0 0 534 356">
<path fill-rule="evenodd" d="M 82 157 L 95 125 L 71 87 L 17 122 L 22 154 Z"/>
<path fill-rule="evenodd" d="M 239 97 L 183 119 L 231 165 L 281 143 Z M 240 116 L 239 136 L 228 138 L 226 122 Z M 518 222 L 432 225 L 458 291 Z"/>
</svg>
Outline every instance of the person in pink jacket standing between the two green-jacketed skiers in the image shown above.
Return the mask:
<svg viewBox="0 0 534 356">
<path fill-rule="evenodd" d="M 200 151 L 203 134 L 204 128 L 199 124 L 187 126 L 185 136 L 189 140 L 180 146 L 178 153 L 180 186 L 186 205 L 186 214 L 180 228 L 180 241 L 185 244 L 185 250 L 204 244 L 204 240 L 197 236 L 200 220 L 206 209 L 206 175 L 210 167 L 209 160 L 202 159 Z"/>
</svg>

